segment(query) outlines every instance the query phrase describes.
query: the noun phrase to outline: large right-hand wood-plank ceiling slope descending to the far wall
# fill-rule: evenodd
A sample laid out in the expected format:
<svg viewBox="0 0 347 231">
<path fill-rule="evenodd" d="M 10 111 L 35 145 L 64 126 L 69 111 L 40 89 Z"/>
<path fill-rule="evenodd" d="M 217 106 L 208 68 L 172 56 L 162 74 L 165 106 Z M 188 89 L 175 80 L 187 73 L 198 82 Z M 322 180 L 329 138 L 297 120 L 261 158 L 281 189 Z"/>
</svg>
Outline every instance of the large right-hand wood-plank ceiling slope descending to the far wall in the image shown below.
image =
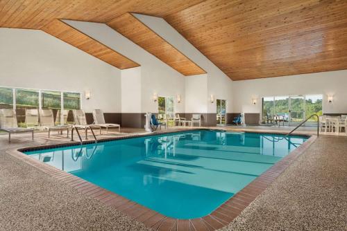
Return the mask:
<svg viewBox="0 0 347 231">
<path fill-rule="evenodd" d="M 165 19 L 232 80 L 347 69 L 347 1 L 208 0 Z"/>
</svg>

